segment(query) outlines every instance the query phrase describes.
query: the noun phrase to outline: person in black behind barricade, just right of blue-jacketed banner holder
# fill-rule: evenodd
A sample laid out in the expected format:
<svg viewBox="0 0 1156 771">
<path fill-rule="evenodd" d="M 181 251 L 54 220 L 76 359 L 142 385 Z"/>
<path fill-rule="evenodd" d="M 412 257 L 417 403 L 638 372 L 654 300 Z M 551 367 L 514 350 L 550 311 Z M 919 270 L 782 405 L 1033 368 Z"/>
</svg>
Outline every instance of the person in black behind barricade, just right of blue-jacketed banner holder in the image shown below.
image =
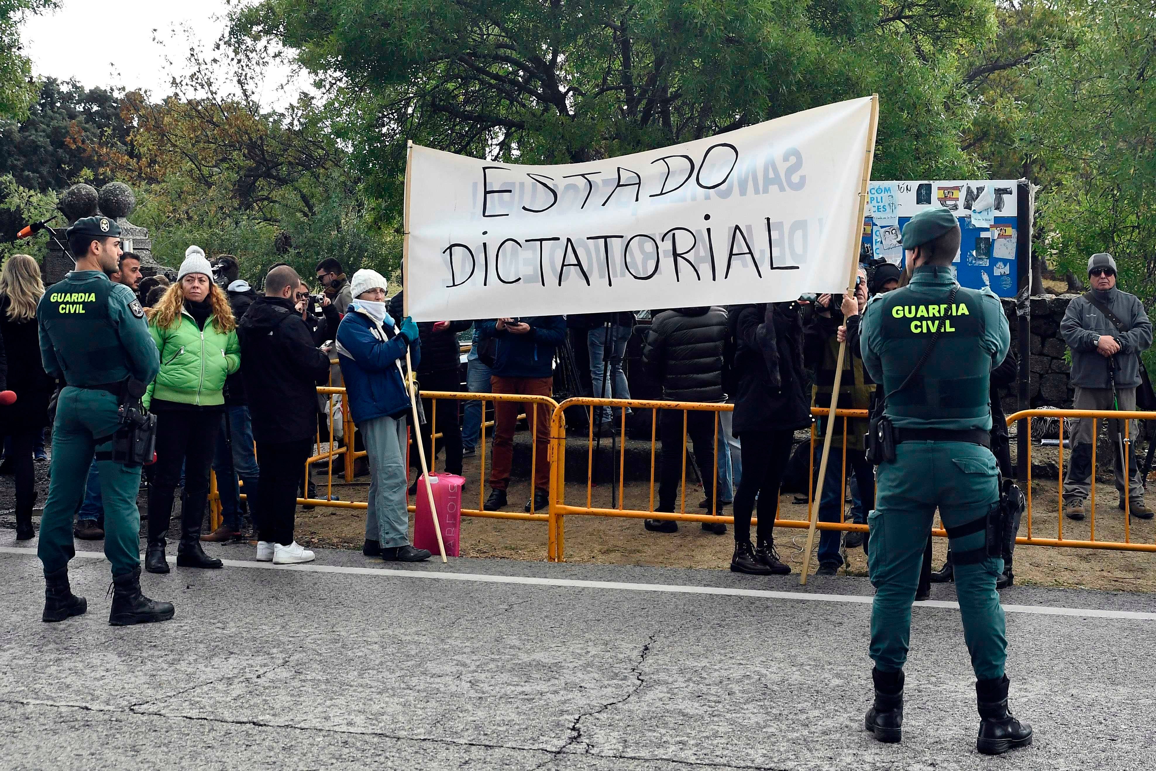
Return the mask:
<svg viewBox="0 0 1156 771">
<path fill-rule="evenodd" d="M 390 316 L 403 319 L 405 289 L 390 299 Z M 461 347 L 458 344 L 458 333 L 474 326 L 473 321 L 422 321 L 417 325 L 417 334 L 422 341 L 422 358 L 417 364 L 417 383 L 422 391 L 461 391 Z M 461 475 L 461 423 L 458 417 L 457 399 L 438 399 L 435 415 L 432 399 L 422 399 L 425 410 L 425 424 L 422 429 L 422 444 L 425 446 L 427 461 L 432 466 L 437 450 L 430 442 L 433 421 L 442 433 L 442 446 L 445 447 L 445 470 L 449 474 Z M 418 466 L 421 458 L 410 453 L 409 465 Z M 417 491 L 417 481 L 409 494 Z"/>
</svg>

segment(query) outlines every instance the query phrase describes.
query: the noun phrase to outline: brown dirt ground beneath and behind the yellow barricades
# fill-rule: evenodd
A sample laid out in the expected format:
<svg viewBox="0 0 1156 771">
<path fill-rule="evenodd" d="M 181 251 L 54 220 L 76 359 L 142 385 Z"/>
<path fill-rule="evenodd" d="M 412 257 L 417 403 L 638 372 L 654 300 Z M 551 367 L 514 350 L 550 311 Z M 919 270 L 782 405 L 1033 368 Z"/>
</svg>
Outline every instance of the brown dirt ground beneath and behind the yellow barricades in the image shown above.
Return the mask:
<svg viewBox="0 0 1156 771">
<path fill-rule="evenodd" d="M 466 491 L 465 509 L 479 509 L 479 458 L 467 458 L 464 476 Z M 314 477 L 318 489 L 324 489 L 324 477 Z M 343 501 L 365 501 L 369 484 L 338 484 L 334 491 Z M 489 491 L 481 489 L 482 495 Z M 657 492 L 657 491 L 655 491 Z M 585 482 L 566 484 L 566 503 L 585 505 Z M 595 507 L 610 507 L 610 485 L 601 484 L 591 489 L 591 503 Z M 807 519 L 806 503 L 795 504 L 795 496 L 784 495 L 780 499 L 781 519 Z M 507 511 L 520 511 L 529 499 L 529 484 L 514 480 L 510 488 Z M 697 513 L 703 499 L 702 488 L 688 483 L 687 511 Z M 1117 495 L 1111 484 L 1097 484 L 1096 538 L 1098 540 L 1125 540 L 1124 514 L 1116 509 Z M 647 482 L 627 484 L 625 505 L 643 511 L 650 507 Z M 1054 482 L 1036 482 L 1032 489 L 1031 534 L 1036 538 L 1057 538 L 1057 485 Z M 1136 520 L 1129 526 L 1133 542 L 1156 543 L 1156 520 Z M 630 565 L 653 565 L 672 568 L 726 569 L 734 549 L 732 533 L 714 535 L 706 533 L 696 522 L 680 524 L 677 533 L 651 533 L 644 529 L 642 520 L 568 516 L 565 526 L 566 562 L 590 562 Z M 365 532 L 364 512 L 350 509 L 318 507 L 299 511 L 297 538 L 302 543 L 361 548 Z M 1027 518 L 1020 535 L 1027 536 Z M 1070 539 L 1088 539 L 1091 521 L 1074 522 L 1064 519 L 1064 535 Z M 776 546 L 779 556 L 795 572 L 802 563 L 807 542 L 806 529 L 780 527 L 776 529 Z M 461 525 L 461 554 L 468 557 L 506 557 L 513 559 L 546 559 L 546 522 L 497 520 L 464 517 Z M 817 548 L 817 536 L 816 536 Z M 935 568 L 942 562 L 947 550 L 946 539 L 935 539 Z M 1039 586 L 1085 587 L 1096 590 L 1120 590 L 1129 592 L 1156 592 L 1156 554 L 1118 551 L 1107 549 L 1077 549 L 1058 547 L 1020 546 L 1015 553 L 1015 576 L 1021 584 Z M 867 574 L 867 561 L 862 549 L 846 553 L 846 572 L 852 576 Z M 812 571 L 817 564 L 812 558 Z"/>
</svg>

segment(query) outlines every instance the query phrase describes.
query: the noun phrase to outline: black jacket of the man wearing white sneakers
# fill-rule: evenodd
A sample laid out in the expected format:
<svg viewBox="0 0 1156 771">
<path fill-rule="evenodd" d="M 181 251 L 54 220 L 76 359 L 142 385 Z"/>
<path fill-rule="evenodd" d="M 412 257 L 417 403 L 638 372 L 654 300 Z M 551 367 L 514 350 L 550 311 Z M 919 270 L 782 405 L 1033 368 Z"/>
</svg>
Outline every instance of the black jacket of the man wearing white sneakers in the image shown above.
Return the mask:
<svg viewBox="0 0 1156 771">
<path fill-rule="evenodd" d="M 237 325 L 253 438 L 279 444 L 317 433 L 317 386 L 329 377 L 329 357 L 281 297 L 258 297 Z"/>
</svg>

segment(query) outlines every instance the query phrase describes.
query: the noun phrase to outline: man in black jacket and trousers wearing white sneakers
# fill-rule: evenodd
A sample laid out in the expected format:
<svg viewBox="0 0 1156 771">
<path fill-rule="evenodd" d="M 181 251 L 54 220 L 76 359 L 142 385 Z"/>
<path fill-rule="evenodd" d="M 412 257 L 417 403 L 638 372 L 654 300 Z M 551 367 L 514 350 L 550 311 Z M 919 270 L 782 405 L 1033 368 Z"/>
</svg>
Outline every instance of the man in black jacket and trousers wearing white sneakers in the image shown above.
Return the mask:
<svg viewBox="0 0 1156 771">
<path fill-rule="evenodd" d="M 301 279 L 289 266 L 269 270 L 265 296 L 237 325 L 240 373 L 250 396 L 253 438 L 261 459 L 261 497 L 253 512 L 257 559 L 310 562 L 294 540 L 297 483 L 317 433 L 317 384 L 329 376 L 329 354 L 316 348 L 294 309 Z"/>
</svg>

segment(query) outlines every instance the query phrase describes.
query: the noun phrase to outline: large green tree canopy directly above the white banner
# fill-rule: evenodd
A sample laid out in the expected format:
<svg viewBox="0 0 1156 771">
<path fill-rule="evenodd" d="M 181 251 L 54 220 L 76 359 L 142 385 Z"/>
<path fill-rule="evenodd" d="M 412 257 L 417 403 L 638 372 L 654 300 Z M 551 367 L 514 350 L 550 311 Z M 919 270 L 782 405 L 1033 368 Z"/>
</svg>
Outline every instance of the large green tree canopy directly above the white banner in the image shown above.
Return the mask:
<svg viewBox="0 0 1156 771">
<path fill-rule="evenodd" d="M 953 62 L 992 24 L 986 0 L 264 0 L 234 32 L 299 51 L 397 201 L 407 139 L 568 163 L 872 91 L 880 176 L 964 173 Z"/>
</svg>

